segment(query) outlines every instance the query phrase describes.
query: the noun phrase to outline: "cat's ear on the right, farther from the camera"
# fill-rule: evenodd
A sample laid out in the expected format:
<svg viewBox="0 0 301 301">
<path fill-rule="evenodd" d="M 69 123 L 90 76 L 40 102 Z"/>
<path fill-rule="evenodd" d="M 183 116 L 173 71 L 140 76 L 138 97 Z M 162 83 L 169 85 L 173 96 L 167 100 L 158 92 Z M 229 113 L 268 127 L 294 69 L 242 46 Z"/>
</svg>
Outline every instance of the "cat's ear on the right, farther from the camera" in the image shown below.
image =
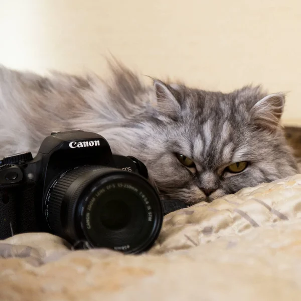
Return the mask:
<svg viewBox="0 0 301 301">
<path fill-rule="evenodd" d="M 263 97 L 251 109 L 253 121 L 261 127 L 275 130 L 280 124 L 284 104 L 285 95 L 282 93 Z"/>
</svg>

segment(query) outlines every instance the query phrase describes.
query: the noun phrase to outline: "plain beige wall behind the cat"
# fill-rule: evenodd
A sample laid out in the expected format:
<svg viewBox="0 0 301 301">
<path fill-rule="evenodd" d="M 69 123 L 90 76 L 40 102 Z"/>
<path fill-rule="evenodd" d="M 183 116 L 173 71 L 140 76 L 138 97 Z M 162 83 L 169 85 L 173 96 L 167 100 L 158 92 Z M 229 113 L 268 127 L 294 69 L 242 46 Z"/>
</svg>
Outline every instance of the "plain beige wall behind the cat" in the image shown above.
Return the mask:
<svg viewBox="0 0 301 301">
<path fill-rule="evenodd" d="M 299 0 L 0 0 L 0 63 L 105 74 L 110 53 L 143 74 L 229 91 L 289 91 L 301 124 Z"/>
</svg>

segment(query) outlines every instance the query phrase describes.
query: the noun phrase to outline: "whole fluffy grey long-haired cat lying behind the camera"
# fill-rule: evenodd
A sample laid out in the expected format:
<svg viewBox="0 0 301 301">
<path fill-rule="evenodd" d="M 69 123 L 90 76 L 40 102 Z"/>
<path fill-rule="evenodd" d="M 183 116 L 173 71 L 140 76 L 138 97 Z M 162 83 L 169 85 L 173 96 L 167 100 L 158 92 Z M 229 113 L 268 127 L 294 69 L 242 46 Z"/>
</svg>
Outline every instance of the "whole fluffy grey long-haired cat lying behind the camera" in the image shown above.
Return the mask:
<svg viewBox="0 0 301 301">
<path fill-rule="evenodd" d="M 103 135 L 143 161 L 163 196 L 212 201 L 298 172 L 280 117 L 285 98 L 260 87 L 231 93 L 154 79 L 119 63 L 111 79 L 0 69 L 0 156 L 36 154 L 52 130 Z M 154 183 L 154 182 L 153 182 Z"/>
</svg>

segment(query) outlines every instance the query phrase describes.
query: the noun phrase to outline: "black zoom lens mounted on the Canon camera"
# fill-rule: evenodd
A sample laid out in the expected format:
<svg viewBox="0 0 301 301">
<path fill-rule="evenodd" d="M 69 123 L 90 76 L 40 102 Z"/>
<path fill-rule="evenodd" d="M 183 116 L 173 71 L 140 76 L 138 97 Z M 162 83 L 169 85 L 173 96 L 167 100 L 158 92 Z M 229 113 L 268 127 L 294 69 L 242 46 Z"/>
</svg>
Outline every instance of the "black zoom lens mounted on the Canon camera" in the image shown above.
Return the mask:
<svg viewBox="0 0 301 301">
<path fill-rule="evenodd" d="M 152 185 L 135 173 L 102 166 L 78 167 L 54 179 L 44 212 L 54 234 L 124 253 L 149 249 L 163 221 Z"/>
</svg>

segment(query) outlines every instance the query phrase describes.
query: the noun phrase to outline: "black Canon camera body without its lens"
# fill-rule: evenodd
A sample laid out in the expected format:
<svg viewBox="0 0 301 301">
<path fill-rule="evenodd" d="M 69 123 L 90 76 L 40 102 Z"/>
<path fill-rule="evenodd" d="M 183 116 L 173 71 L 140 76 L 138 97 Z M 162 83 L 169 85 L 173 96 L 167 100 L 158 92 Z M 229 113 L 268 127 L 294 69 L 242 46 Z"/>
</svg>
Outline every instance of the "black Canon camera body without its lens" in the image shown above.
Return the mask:
<svg viewBox="0 0 301 301">
<path fill-rule="evenodd" d="M 47 194 L 68 170 L 102 166 L 147 179 L 147 169 L 133 157 L 113 155 L 101 135 L 83 130 L 52 132 L 35 158 L 30 152 L 5 157 L 0 165 L 0 239 L 25 232 L 51 232 Z"/>
</svg>

